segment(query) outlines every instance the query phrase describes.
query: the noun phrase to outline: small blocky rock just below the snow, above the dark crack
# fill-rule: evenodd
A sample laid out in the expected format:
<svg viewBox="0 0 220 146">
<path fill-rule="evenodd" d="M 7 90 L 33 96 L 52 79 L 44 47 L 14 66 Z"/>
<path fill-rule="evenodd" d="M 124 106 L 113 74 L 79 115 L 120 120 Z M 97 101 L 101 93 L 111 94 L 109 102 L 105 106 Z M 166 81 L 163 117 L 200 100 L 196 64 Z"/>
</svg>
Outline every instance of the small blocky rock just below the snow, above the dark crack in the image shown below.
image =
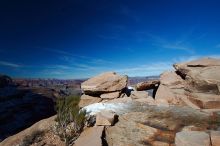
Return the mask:
<svg viewBox="0 0 220 146">
<path fill-rule="evenodd" d="M 102 110 L 96 115 L 97 126 L 111 126 L 114 125 L 117 115 L 113 111 Z"/>
</svg>

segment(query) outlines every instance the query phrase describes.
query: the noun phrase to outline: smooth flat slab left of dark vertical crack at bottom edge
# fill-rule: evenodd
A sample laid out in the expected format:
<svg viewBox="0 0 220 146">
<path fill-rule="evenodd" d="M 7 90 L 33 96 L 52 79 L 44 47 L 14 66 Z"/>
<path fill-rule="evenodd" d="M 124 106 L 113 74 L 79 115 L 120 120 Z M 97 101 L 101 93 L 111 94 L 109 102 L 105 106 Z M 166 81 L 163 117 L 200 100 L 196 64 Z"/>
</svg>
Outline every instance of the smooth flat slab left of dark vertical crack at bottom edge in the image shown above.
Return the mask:
<svg viewBox="0 0 220 146">
<path fill-rule="evenodd" d="M 84 130 L 75 141 L 74 146 L 102 146 L 104 126 L 94 126 Z"/>
</svg>

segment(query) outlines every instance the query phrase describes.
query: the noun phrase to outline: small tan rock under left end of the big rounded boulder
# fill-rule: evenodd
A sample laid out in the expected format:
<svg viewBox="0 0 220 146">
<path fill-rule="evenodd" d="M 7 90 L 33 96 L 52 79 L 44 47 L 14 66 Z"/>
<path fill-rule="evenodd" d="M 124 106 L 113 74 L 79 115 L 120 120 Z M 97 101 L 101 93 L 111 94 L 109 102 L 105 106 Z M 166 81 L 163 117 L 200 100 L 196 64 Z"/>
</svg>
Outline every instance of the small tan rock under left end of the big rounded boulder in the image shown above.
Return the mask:
<svg viewBox="0 0 220 146">
<path fill-rule="evenodd" d="M 83 94 L 80 98 L 79 107 L 85 107 L 87 105 L 98 103 L 100 101 L 102 101 L 102 99 L 99 97 L 93 97 Z"/>
</svg>

